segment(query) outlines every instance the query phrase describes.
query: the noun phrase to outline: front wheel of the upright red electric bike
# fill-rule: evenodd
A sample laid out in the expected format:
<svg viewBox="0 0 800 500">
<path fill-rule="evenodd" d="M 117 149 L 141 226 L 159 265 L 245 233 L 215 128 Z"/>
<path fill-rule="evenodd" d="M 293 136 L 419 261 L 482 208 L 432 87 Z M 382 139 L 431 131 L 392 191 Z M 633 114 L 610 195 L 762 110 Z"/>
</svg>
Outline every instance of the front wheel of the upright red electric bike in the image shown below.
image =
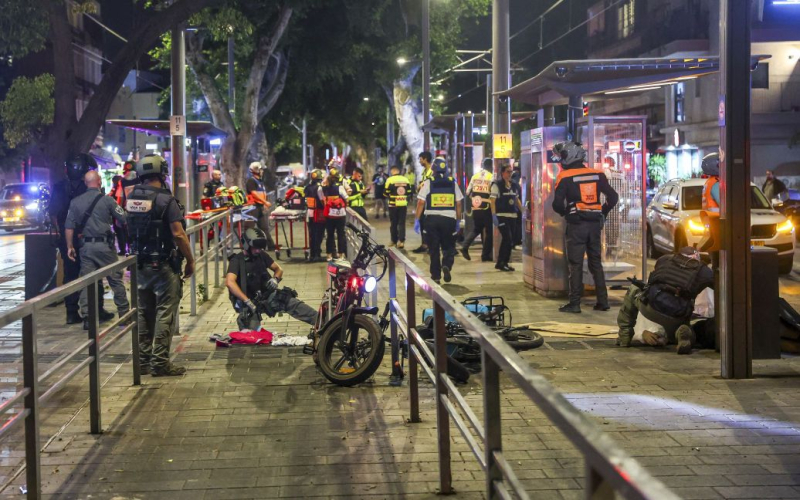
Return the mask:
<svg viewBox="0 0 800 500">
<path fill-rule="evenodd" d="M 348 329 L 345 344 L 355 331 L 356 355 L 348 356 L 340 340 L 344 317 L 331 323 L 317 345 L 319 368 L 325 378 L 336 385 L 351 387 L 369 379 L 383 360 L 386 343 L 378 324 L 369 316 L 353 317 L 354 328 Z"/>
</svg>

